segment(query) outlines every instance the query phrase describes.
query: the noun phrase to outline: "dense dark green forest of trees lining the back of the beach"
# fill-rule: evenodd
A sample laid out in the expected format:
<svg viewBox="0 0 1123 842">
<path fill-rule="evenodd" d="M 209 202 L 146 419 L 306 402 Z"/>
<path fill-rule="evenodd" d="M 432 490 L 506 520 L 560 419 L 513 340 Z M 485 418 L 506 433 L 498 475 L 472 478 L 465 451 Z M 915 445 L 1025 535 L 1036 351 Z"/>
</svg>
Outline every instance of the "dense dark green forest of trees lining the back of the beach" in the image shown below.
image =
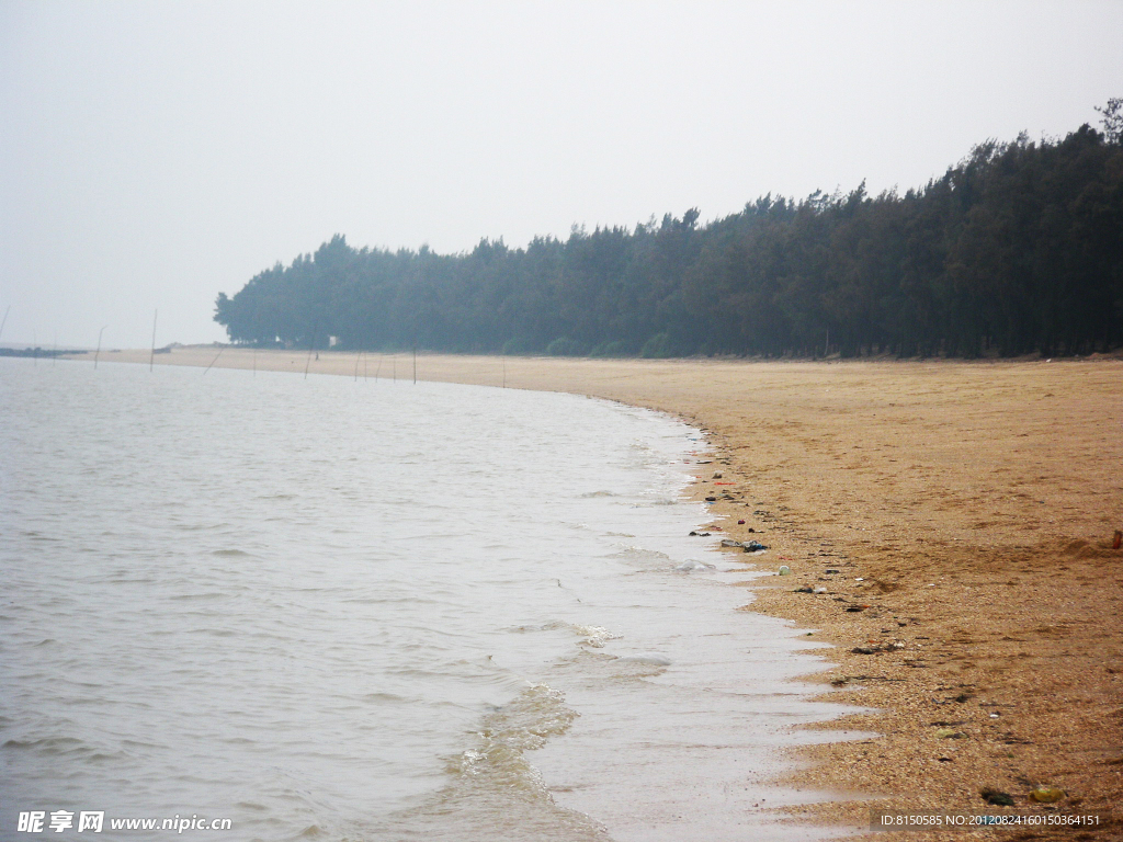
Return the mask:
<svg viewBox="0 0 1123 842">
<path fill-rule="evenodd" d="M 262 272 L 231 341 L 668 357 L 1046 356 L 1123 347 L 1123 101 L 1104 131 L 987 141 L 924 187 L 772 195 L 526 248 L 356 249 Z"/>
</svg>

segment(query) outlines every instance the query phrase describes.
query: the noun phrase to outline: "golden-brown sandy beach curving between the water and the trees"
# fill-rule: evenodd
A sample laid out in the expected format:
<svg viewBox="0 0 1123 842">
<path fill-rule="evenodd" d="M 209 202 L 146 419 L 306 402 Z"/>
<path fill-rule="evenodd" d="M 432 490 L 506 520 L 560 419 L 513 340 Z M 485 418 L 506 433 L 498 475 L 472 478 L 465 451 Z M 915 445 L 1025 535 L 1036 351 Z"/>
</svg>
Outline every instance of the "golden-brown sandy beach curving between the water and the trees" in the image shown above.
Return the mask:
<svg viewBox="0 0 1123 842">
<path fill-rule="evenodd" d="M 100 359 L 147 364 L 149 353 Z M 411 381 L 414 366 L 409 354 L 212 347 L 155 360 L 298 376 L 307 366 L 371 388 Z M 764 578 L 746 610 L 832 644 L 822 652 L 837 668 L 809 680 L 876 708 L 821 727 L 878 736 L 805 751 L 798 774 L 867 797 L 796 821 L 862 829 L 871 808 L 1095 813 L 1098 826 L 970 833 L 1123 838 L 1123 549 L 1112 548 L 1123 529 L 1123 360 L 419 355 L 416 365 L 418 379 L 594 395 L 705 431 L 711 464 L 695 493 L 714 498 L 714 529 L 699 541 L 767 544 L 761 556 L 730 550 L 792 570 Z M 1039 804 L 1037 787 L 1063 795 Z M 1014 806 L 989 806 L 986 789 Z M 897 836 L 917 834 L 876 835 Z"/>
</svg>

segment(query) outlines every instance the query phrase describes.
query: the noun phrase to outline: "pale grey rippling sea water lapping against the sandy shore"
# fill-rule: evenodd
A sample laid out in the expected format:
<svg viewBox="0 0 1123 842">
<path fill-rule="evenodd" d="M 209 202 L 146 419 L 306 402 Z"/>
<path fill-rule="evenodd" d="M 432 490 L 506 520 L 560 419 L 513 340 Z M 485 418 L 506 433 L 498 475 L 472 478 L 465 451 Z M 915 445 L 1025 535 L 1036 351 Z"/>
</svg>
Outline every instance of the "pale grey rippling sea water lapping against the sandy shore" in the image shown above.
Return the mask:
<svg viewBox="0 0 1123 842">
<path fill-rule="evenodd" d="M 567 394 L 0 360 L 0 839 L 822 838 L 769 778 L 839 708 L 688 537 L 704 449 Z"/>
</svg>

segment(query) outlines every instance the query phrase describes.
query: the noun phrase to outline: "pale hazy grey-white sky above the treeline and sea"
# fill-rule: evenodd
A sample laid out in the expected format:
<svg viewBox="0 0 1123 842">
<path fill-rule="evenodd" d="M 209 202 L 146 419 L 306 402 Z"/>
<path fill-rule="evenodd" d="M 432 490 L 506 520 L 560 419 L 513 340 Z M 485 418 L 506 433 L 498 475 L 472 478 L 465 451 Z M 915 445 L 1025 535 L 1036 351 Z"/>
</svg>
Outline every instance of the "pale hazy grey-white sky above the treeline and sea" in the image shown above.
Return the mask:
<svg viewBox="0 0 1123 842">
<path fill-rule="evenodd" d="M 0 341 L 147 347 L 277 260 L 922 185 L 1123 97 L 1123 1 L 0 0 Z"/>
</svg>

